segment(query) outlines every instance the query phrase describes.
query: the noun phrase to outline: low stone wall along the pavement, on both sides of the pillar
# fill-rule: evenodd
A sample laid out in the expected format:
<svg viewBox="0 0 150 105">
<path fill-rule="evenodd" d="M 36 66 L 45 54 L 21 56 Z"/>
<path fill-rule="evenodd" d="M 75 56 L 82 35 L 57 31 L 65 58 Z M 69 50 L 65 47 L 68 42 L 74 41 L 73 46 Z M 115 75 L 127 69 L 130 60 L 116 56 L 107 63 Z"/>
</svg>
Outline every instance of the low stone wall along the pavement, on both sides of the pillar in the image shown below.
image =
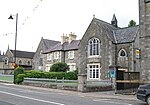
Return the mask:
<svg viewBox="0 0 150 105">
<path fill-rule="evenodd" d="M 78 82 L 77 80 L 57 80 L 57 79 L 36 79 L 28 78 L 24 79 L 23 85 L 37 86 L 44 88 L 53 88 L 53 89 L 64 89 L 78 91 Z M 87 82 L 85 84 L 86 91 L 84 92 L 98 92 L 98 91 L 109 91 L 112 90 L 110 83 L 95 83 Z"/>
</svg>

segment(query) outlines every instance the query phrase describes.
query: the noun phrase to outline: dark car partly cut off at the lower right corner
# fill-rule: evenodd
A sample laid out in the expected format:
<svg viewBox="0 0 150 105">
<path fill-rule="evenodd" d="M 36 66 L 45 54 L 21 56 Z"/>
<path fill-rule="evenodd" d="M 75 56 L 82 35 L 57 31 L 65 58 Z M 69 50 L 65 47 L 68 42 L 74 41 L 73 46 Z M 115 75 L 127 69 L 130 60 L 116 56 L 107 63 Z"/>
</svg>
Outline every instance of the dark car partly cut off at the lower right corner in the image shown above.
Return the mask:
<svg viewBox="0 0 150 105">
<path fill-rule="evenodd" d="M 150 105 L 150 84 L 140 85 L 136 96 L 137 99 L 142 100 Z"/>
</svg>

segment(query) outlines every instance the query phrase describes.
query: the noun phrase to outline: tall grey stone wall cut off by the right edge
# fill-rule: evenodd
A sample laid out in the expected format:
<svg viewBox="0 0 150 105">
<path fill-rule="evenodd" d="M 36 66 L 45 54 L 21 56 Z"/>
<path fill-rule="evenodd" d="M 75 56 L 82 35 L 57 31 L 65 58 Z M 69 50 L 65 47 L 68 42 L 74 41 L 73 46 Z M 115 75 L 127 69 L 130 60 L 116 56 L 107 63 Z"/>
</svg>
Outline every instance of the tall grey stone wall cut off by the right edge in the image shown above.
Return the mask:
<svg viewBox="0 0 150 105">
<path fill-rule="evenodd" d="M 150 80 L 150 2 L 139 0 L 139 42 L 141 48 L 141 80 Z"/>
</svg>

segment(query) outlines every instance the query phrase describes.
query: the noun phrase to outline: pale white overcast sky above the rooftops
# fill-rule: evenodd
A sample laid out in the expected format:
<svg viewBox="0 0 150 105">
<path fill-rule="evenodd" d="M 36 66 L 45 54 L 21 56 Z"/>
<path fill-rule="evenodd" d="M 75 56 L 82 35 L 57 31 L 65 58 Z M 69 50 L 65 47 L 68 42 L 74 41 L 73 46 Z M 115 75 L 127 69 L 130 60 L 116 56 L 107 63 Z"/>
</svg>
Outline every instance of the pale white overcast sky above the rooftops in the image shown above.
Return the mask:
<svg viewBox="0 0 150 105">
<path fill-rule="evenodd" d="M 81 39 L 93 15 L 110 23 L 115 14 L 119 27 L 130 20 L 138 24 L 138 9 L 138 0 L 1 0 L 0 51 L 15 49 L 17 13 L 16 49 L 35 52 L 42 37 L 60 41 L 63 33 L 73 32 Z"/>
</svg>

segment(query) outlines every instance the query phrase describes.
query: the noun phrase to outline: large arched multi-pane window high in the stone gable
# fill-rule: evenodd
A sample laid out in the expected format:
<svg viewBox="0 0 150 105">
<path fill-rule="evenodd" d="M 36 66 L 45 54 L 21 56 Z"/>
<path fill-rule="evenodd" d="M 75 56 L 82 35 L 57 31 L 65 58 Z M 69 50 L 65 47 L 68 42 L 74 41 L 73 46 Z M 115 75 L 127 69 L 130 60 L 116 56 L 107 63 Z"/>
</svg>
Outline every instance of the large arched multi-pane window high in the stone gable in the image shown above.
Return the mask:
<svg viewBox="0 0 150 105">
<path fill-rule="evenodd" d="M 88 43 L 88 49 L 89 49 L 89 56 L 96 56 L 99 55 L 100 51 L 100 41 L 97 38 L 92 38 L 89 40 Z"/>
</svg>

